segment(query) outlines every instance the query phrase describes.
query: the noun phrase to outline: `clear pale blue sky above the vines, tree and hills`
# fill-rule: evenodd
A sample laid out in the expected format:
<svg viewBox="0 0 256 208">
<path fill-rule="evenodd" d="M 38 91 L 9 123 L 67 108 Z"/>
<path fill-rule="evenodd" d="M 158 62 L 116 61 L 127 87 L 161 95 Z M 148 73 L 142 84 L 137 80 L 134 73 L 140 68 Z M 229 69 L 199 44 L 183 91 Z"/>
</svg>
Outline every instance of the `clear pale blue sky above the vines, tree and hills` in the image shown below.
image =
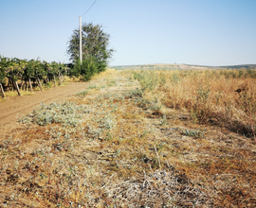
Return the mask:
<svg viewBox="0 0 256 208">
<path fill-rule="evenodd" d="M 0 0 L 0 54 L 68 62 L 94 1 Z M 97 0 L 82 22 L 111 35 L 110 65 L 256 63 L 256 0 Z"/>
</svg>

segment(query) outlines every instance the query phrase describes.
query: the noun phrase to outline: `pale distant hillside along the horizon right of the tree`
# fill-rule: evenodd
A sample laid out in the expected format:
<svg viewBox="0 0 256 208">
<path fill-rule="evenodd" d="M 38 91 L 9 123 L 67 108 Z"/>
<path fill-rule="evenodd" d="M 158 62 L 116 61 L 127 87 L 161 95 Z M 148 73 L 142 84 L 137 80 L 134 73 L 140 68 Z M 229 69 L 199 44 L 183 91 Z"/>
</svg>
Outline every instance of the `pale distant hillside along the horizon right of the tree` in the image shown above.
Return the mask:
<svg viewBox="0 0 256 208">
<path fill-rule="evenodd" d="M 256 69 L 256 64 L 229 65 L 229 66 L 205 66 L 183 63 L 156 63 L 145 65 L 119 65 L 109 66 L 117 70 L 123 69 L 161 69 L 161 70 L 205 70 L 205 69 Z"/>
</svg>

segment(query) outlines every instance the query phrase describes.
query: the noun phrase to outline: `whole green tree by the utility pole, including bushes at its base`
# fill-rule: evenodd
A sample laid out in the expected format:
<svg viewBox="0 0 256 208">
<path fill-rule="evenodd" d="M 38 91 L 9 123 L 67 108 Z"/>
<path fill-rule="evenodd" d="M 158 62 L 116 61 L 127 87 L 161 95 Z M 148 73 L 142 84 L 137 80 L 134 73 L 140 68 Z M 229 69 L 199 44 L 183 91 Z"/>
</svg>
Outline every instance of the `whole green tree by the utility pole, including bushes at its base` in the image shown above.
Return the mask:
<svg viewBox="0 0 256 208">
<path fill-rule="evenodd" d="M 82 76 L 83 81 L 88 81 L 94 75 L 105 71 L 107 62 L 114 52 L 109 49 L 110 35 L 103 32 L 102 26 L 93 24 L 82 25 L 82 62 L 79 61 L 79 29 L 73 31 L 68 41 L 67 54 L 74 63 L 70 75 Z"/>
</svg>

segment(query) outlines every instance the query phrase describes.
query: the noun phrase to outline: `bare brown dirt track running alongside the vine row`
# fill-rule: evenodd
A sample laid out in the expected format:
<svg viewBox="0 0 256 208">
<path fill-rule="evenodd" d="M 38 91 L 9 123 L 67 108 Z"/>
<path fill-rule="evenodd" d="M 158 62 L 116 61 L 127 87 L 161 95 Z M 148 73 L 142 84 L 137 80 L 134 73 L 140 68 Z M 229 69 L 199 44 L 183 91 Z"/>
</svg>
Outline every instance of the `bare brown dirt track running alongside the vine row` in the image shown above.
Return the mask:
<svg viewBox="0 0 256 208">
<path fill-rule="evenodd" d="M 0 136 L 5 135 L 17 124 L 18 117 L 31 112 L 41 102 L 49 104 L 66 100 L 88 86 L 88 82 L 70 82 L 64 87 L 58 86 L 43 92 L 37 91 L 34 95 L 9 97 L 7 101 L 0 103 Z"/>
</svg>

